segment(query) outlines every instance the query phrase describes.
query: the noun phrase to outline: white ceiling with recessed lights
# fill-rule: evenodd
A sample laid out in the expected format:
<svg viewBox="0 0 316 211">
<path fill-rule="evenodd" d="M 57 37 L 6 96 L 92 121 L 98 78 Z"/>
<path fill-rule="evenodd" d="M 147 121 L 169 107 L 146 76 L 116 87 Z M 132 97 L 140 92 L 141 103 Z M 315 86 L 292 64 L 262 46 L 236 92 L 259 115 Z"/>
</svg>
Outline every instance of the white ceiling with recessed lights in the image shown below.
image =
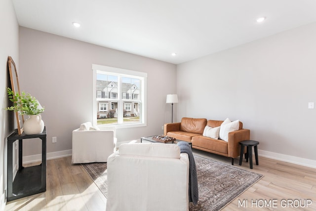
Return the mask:
<svg viewBox="0 0 316 211">
<path fill-rule="evenodd" d="M 173 64 L 316 22 L 316 0 L 13 0 L 13 4 L 20 26 Z M 260 16 L 267 19 L 257 23 Z M 171 56 L 173 52 L 177 55 Z"/>
</svg>

